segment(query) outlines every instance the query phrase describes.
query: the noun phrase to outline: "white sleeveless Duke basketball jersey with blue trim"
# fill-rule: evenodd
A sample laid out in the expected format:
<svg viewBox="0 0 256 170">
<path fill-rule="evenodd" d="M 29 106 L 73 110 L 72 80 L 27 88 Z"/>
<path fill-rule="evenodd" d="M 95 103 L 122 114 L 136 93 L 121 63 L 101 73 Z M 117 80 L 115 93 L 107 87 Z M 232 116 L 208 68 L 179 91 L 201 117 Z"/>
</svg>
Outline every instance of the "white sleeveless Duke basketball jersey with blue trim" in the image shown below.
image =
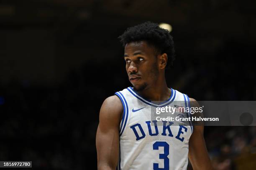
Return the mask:
<svg viewBox="0 0 256 170">
<path fill-rule="evenodd" d="M 189 107 L 189 98 L 171 89 L 169 100 L 157 105 L 141 97 L 132 87 L 116 92 L 123 104 L 120 123 L 120 156 L 118 170 L 186 170 L 189 138 L 193 132 L 190 124 L 172 125 L 172 121 L 156 121 L 151 110 L 182 101 Z M 189 115 L 189 113 L 175 113 Z M 161 125 L 160 125 L 161 124 Z"/>
</svg>

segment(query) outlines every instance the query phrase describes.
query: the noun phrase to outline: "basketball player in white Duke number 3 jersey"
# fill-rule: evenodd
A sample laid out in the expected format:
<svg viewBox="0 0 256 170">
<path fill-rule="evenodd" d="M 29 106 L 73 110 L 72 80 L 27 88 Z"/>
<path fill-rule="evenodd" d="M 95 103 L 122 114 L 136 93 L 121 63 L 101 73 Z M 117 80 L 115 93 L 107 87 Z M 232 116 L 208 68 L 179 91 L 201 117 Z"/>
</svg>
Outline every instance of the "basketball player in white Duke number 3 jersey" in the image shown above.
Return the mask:
<svg viewBox="0 0 256 170">
<path fill-rule="evenodd" d="M 171 121 L 159 125 L 151 120 L 153 107 L 195 101 L 166 85 L 165 68 L 174 60 L 172 36 L 146 22 L 128 28 L 119 38 L 133 87 L 102 104 L 96 135 L 98 169 L 186 170 L 189 158 L 194 170 L 211 170 L 203 126 L 172 126 Z"/>
</svg>

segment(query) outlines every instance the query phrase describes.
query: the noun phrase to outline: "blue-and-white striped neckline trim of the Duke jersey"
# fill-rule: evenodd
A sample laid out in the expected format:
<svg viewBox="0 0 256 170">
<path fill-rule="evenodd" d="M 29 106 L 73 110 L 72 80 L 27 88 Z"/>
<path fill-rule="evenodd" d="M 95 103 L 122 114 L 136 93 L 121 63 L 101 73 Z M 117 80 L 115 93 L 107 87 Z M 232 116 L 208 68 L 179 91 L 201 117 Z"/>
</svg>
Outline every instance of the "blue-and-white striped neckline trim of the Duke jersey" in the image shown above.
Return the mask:
<svg viewBox="0 0 256 170">
<path fill-rule="evenodd" d="M 176 90 L 173 90 L 173 89 L 171 88 L 171 91 L 172 91 L 172 92 L 171 92 L 170 98 L 169 98 L 168 100 L 166 100 L 166 101 L 160 103 L 159 105 L 157 105 L 157 104 L 155 104 L 155 103 L 152 103 L 150 100 L 144 99 L 144 98 L 143 98 L 141 95 L 139 95 L 135 90 L 133 90 L 132 87 L 128 87 L 127 90 L 128 90 L 129 92 L 131 92 L 131 94 L 132 94 L 134 97 L 136 97 L 136 98 L 138 98 L 139 100 L 141 100 L 142 102 L 144 102 L 144 103 L 146 103 L 146 104 L 148 104 L 148 105 L 154 106 L 154 107 L 164 107 L 164 106 L 166 106 L 166 105 L 169 105 L 171 102 L 173 102 L 173 100 L 174 100 L 175 97 L 176 97 Z"/>
</svg>

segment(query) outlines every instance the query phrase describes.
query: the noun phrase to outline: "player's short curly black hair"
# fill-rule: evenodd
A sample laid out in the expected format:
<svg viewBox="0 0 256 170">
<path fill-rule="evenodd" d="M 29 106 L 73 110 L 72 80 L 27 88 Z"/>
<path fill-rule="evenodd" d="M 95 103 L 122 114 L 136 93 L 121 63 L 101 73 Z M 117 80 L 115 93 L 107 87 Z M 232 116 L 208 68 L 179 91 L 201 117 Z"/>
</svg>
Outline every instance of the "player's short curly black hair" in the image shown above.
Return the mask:
<svg viewBox="0 0 256 170">
<path fill-rule="evenodd" d="M 123 47 L 130 42 L 145 40 L 149 45 L 155 47 L 158 54 L 167 54 L 168 62 L 166 67 L 173 64 L 175 59 L 173 37 L 168 30 L 160 28 L 156 23 L 146 22 L 127 28 L 123 35 L 118 38 Z"/>
</svg>

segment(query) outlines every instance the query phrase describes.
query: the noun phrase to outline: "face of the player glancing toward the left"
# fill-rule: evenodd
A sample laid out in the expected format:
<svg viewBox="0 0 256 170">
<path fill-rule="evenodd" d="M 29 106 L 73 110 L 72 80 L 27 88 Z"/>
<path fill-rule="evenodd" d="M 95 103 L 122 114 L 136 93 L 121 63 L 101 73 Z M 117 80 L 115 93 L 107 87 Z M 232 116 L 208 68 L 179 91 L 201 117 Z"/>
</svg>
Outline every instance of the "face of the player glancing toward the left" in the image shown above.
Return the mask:
<svg viewBox="0 0 256 170">
<path fill-rule="evenodd" d="M 158 60 L 154 47 L 146 41 L 126 44 L 124 59 L 129 80 L 135 90 L 144 90 L 156 82 L 159 75 Z"/>
</svg>

